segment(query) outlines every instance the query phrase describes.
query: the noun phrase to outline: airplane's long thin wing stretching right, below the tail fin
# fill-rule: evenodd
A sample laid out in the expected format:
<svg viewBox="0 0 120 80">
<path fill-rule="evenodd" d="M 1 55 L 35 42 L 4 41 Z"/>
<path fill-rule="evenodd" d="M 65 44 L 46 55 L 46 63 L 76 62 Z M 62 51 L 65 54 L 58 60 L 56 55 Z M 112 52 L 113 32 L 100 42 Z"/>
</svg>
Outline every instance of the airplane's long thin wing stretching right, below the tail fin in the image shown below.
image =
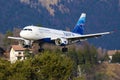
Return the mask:
<svg viewBox="0 0 120 80">
<path fill-rule="evenodd" d="M 86 35 L 80 35 L 80 36 L 77 36 L 77 37 L 68 37 L 67 39 L 69 40 L 86 40 L 88 38 L 97 38 L 97 37 L 100 37 L 100 36 L 103 36 L 103 35 L 106 35 L 106 34 L 111 34 L 111 32 L 103 32 L 103 33 L 96 33 L 96 34 L 86 34 Z"/>
</svg>

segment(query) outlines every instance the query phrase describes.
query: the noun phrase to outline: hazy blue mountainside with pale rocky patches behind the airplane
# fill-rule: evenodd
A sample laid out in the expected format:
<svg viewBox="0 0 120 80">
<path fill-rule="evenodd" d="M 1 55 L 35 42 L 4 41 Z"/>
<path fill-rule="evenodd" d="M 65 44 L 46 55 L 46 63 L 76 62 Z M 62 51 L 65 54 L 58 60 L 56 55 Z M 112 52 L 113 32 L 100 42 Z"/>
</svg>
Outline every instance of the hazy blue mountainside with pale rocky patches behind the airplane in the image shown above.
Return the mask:
<svg viewBox="0 0 120 80">
<path fill-rule="evenodd" d="M 119 49 L 120 0 L 0 0 L 0 32 L 42 25 L 72 29 L 80 14 L 87 13 L 85 33 L 118 30 L 89 42 L 97 47 Z"/>
</svg>

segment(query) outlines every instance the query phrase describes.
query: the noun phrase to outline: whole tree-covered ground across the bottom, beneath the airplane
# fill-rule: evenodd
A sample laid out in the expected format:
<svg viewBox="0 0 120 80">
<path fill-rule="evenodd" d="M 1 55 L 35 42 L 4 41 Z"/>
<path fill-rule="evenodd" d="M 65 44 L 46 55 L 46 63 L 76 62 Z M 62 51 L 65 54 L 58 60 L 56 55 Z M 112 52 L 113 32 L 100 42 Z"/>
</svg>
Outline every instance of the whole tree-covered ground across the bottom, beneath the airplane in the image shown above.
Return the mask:
<svg viewBox="0 0 120 80">
<path fill-rule="evenodd" d="M 0 58 L 0 80 L 120 80 L 120 60 L 108 63 L 109 58 L 102 49 L 98 53 L 87 43 L 69 49 L 63 53 L 49 46 L 35 55 L 26 49 L 26 59 L 12 64 Z M 116 59 L 119 58 L 120 53 Z M 99 60 L 102 62 L 98 63 Z"/>
</svg>

